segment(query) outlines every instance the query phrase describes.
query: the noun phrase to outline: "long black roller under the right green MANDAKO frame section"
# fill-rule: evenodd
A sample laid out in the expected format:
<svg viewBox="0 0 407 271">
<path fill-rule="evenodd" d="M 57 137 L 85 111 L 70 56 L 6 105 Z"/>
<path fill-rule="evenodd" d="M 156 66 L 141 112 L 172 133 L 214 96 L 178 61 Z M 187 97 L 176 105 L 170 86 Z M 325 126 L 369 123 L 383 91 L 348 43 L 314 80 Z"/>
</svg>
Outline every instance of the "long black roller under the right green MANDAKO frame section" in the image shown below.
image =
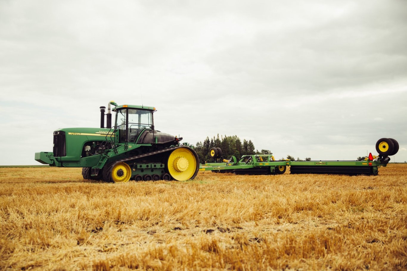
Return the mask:
<svg viewBox="0 0 407 271">
<path fill-rule="evenodd" d="M 369 166 L 291 166 L 291 174 L 374 175 Z"/>
</svg>

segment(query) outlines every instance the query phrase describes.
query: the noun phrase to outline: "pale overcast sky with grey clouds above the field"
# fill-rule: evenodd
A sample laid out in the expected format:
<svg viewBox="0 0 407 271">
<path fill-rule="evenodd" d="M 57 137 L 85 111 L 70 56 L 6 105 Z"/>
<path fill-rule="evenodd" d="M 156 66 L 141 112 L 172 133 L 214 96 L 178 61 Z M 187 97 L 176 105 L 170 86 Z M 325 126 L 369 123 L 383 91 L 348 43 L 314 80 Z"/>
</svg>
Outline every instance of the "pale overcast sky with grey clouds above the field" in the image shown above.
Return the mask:
<svg viewBox="0 0 407 271">
<path fill-rule="evenodd" d="M 0 0 L 0 165 L 39 165 L 99 106 L 155 106 L 195 144 L 237 135 L 276 158 L 407 160 L 407 2 Z"/>
</svg>

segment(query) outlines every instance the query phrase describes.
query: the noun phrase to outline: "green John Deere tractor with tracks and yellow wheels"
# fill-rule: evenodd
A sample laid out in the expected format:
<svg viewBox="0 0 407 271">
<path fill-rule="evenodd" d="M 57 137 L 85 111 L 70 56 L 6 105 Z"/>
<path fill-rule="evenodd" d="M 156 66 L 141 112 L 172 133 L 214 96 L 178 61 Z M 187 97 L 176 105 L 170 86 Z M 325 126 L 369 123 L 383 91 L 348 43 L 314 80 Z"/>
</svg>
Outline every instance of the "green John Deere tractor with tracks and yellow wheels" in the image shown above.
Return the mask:
<svg viewBox="0 0 407 271">
<path fill-rule="evenodd" d="M 51 167 L 82 167 L 83 178 L 107 182 L 195 178 L 199 158 L 193 146 L 155 130 L 154 107 L 113 101 L 107 107 L 107 114 L 100 107 L 101 128 L 55 130 L 53 152 L 37 152 L 35 160 Z"/>
</svg>

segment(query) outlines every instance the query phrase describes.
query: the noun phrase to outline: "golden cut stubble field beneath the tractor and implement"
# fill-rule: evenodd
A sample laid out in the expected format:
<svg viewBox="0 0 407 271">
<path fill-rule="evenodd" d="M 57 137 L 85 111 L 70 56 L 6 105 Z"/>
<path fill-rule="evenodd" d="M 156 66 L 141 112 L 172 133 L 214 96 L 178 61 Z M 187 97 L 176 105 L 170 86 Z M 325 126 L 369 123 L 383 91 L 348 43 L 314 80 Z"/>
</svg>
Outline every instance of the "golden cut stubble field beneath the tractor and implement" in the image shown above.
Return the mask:
<svg viewBox="0 0 407 271">
<path fill-rule="evenodd" d="M 406 270 L 407 165 L 108 184 L 0 169 L 0 270 Z"/>
</svg>

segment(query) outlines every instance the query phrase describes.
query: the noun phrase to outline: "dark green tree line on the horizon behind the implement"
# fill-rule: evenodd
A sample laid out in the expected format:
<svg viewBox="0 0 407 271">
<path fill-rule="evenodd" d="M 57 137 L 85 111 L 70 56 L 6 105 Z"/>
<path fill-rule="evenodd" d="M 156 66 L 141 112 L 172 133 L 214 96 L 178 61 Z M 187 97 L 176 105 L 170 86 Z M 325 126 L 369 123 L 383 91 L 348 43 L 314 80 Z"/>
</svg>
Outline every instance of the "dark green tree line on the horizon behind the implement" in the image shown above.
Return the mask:
<svg viewBox="0 0 407 271">
<path fill-rule="evenodd" d="M 213 158 L 210 157 L 209 151 L 213 147 L 219 147 L 222 149 L 222 156 L 225 159 L 229 159 L 232 155 L 235 156 L 236 158 L 241 158 L 243 155 L 254 155 L 254 154 L 272 154 L 270 150 L 256 150 L 254 147 L 254 143 L 249 140 L 247 141 L 246 139 L 243 139 L 243 141 L 240 140 L 240 138 L 236 135 L 234 136 L 227 136 L 227 135 L 221 135 L 219 137 L 219 134 L 217 134 L 217 137 L 206 137 L 206 139 L 202 142 L 199 141 L 195 144 L 195 152 L 197 152 L 199 161 L 200 163 L 205 163 L 205 162 L 212 162 Z M 281 158 L 280 160 L 285 160 L 289 159 L 291 161 L 304 161 L 297 157 L 295 159 L 291 155 L 287 155 L 287 158 Z M 277 159 L 278 160 L 278 159 Z M 310 157 L 305 158 L 305 161 L 311 161 Z"/>
</svg>

